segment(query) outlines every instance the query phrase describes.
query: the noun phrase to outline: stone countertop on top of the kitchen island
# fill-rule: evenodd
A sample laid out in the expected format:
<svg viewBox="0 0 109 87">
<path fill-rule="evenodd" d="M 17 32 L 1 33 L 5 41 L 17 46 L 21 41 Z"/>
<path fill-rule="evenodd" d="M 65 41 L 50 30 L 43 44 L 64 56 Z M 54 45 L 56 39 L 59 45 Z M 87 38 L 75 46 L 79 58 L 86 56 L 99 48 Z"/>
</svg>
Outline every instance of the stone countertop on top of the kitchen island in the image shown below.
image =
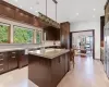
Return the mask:
<svg viewBox="0 0 109 87">
<path fill-rule="evenodd" d="M 28 54 L 38 55 L 47 59 L 53 59 L 69 51 L 70 50 L 66 49 L 43 49 L 43 50 L 29 51 Z"/>
</svg>

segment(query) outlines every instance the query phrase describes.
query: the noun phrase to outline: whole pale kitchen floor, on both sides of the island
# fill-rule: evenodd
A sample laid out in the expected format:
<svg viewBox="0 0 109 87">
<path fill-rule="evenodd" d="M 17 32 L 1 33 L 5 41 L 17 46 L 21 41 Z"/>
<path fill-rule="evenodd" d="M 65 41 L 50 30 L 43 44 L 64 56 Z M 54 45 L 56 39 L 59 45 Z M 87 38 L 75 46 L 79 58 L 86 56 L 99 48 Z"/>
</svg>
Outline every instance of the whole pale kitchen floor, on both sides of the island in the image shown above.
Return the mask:
<svg viewBox="0 0 109 87">
<path fill-rule="evenodd" d="M 37 87 L 27 79 L 27 70 L 24 67 L 0 75 L 0 87 Z M 109 80 L 100 61 L 77 57 L 75 67 L 71 67 L 58 87 L 109 87 Z"/>
</svg>

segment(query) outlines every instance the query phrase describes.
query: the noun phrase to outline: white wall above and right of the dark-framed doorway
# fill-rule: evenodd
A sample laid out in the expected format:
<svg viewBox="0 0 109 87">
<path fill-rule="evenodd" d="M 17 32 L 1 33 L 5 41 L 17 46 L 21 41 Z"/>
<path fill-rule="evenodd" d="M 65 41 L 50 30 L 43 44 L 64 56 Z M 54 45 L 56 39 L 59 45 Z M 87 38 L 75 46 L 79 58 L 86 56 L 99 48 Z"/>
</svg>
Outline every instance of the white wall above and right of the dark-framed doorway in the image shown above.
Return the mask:
<svg viewBox="0 0 109 87">
<path fill-rule="evenodd" d="M 71 32 L 95 29 L 95 59 L 100 59 L 100 20 L 71 23 Z"/>
</svg>

